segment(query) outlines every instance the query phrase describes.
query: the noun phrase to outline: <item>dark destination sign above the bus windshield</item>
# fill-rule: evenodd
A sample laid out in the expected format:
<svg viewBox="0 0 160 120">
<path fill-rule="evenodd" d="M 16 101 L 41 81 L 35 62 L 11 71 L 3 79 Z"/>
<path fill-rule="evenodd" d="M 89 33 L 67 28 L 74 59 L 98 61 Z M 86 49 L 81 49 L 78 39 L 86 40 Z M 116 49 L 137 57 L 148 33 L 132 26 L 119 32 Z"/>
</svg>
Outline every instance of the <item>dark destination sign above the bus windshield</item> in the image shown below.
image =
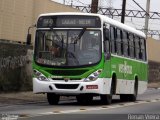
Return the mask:
<svg viewBox="0 0 160 120">
<path fill-rule="evenodd" d="M 40 17 L 37 23 L 38 28 L 47 27 L 89 27 L 100 28 L 101 22 L 99 17 L 96 16 L 43 16 Z"/>
</svg>

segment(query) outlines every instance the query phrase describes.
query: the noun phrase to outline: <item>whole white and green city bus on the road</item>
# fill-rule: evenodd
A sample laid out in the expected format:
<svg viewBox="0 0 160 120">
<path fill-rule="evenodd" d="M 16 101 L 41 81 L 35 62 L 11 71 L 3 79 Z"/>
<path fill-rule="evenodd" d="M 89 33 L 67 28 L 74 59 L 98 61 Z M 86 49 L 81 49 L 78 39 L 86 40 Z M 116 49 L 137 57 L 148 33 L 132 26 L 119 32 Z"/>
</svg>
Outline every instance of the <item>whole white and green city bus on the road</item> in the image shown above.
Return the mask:
<svg viewBox="0 0 160 120">
<path fill-rule="evenodd" d="M 90 103 L 112 95 L 135 101 L 147 88 L 148 62 L 143 32 L 99 14 L 41 14 L 36 24 L 33 92 Z"/>
</svg>

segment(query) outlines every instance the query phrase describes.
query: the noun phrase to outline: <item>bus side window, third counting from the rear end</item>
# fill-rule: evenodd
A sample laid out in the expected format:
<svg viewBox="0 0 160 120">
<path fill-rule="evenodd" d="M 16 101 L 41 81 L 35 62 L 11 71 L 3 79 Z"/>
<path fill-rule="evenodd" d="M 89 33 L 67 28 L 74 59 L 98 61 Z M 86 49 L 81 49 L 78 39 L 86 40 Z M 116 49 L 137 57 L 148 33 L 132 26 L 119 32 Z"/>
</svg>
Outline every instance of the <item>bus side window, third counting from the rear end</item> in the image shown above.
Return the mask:
<svg viewBox="0 0 160 120">
<path fill-rule="evenodd" d="M 134 36 L 133 34 L 129 34 L 129 53 L 130 53 L 130 57 L 134 58 Z"/>
</svg>

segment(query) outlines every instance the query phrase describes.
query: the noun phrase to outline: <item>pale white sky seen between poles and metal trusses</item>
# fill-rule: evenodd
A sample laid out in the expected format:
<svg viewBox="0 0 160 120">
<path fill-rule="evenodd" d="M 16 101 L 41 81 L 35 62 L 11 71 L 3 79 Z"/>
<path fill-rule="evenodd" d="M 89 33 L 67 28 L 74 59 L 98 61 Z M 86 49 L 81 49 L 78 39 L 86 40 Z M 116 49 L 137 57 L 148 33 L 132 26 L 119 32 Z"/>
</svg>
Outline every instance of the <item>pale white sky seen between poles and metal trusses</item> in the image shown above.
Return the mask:
<svg viewBox="0 0 160 120">
<path fill-rule="evenodd" d="M 52 0 L 58 3 L 63 4 L 65 1 L 66 5 L 70 5 L 71 2 L 75 6 L 88 6 L 91 4 L 92 0 Z M 139 5 L 146 10 L 147 0 L 135 0 Z M 122 9 L 122 0 L 99 0 L 99 6 L 101 7 L 113 7 L 115 9 Z M 160 0 L 150 0 L 150 11 L 160 13 Z M 126 0 L 126 9 L 127 10 L 141 10 L 142 9 L 136 5 L 133 0 Z M 120 21 L 120 17 L 114 17 L 115 20 Z M 142 18 L 125 18 L 125 24 L 132 26 L 136 29 L 143 29 L 145 24 L 145 19 Z M 159 20 L 149 20 L 149 29 L 150 30 L 159 30 L 160 31 L 160 19 Z M 154 36 L 156 39 L 160 39 L 157 36 Z"/>
</svg>

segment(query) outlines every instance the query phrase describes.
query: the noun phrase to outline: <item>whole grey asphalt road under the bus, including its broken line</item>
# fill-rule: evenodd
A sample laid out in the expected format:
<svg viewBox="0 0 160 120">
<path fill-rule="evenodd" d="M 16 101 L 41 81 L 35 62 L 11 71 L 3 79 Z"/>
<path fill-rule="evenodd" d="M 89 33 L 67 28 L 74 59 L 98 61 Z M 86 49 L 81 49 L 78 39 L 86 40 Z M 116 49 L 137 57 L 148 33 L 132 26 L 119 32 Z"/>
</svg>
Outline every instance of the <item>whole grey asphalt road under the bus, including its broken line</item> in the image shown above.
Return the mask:
<svg viewBox="0 0 160 120">
<path fill-rule="evenodd" d="M 98 98 L 95 99 L 88 106 L 78 105 L 76 100 L 61 101 L 54 106 L 47 102 L 4 105 L 0 106 L 0 114 L 6 117 L 18 115 L 22 120 L 125 120 L 135 117 L 132 114 L 142 114 L 142 118 L 145 118 L 146 114 L 159 114 L 156 117 L 160 120 L 160 89 L 148 89 L 138 96 L 136 102 L 121 102 L 119 97 L 115 96 L 111 105 L 101 105 Z"/>
</svg>

